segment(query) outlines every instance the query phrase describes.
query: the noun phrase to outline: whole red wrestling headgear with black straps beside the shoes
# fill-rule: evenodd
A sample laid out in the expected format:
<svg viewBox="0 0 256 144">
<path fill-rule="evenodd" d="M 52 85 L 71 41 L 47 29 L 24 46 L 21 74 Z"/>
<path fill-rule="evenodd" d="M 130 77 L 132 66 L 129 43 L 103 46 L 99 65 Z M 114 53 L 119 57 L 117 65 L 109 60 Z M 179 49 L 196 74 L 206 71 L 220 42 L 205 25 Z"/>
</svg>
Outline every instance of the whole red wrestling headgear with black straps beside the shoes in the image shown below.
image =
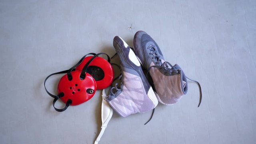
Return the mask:
<svg viewBox="0 0 256 144">
<path fill-rule="evenodd" d="M 89 55 L 89 54 L 87 54 L 84 57 L 82 57 L 79 60 L 79 62 L 76 65 L 72 66 L 72 68 L 70 68 L 69 70 L 64 70 L 62 72 L 56 72 L 54 74 L 50 74 L 44 80 L 44 88 L 46 90 L 45 83 L 46 83 L 46 80 L 50 76 L 53 76 L 55 74 L 66 73 L 64 76 L 62 76 L 62 78 L 60 79 L 60 81 L 58 83 L 58 95 L 53 95 L 50 92 L 48 92 L 48 90 L 46 90 L 47 94 L 49 94 L 51 97 L 54 98 L 54 100 L 52 102 L 53 107 L 55 105 L 55 102 L 59 98 L 64 103 L 66 103 L 66 106 L 62 109 L 58 109 L 58 108 L 54 107 L 54 109 L 56 111 L 63 112 L 64 110 L 66 110 L 68 108 L 69 105 L 82 104 L 82 103 L 90 100 L 92 98 L 92 96 L 94 96 L 95 90 L 96 90 L 96 81 L 90 74 L 87 73 L 87 71 L 91 72 L 91 74 L 95 74 L 96 77 L 98 78 L 97 79 L 98 81 L 104 80 L 104 78 L 106 77 L 105 75 L 108 75 L 108 73 L 103 73 L 104 74 L 103 77 L 102 77 L 102 75 L 100 75 L 102 73 L 100 71 L 107 69 L 106 67 L 104 67 L 104 66 L 99 67 L 99 66 L 90 65 L 90 64 L 91 63 L 96 64 L 94 59 L 96 59 L 96 60 L 98 59 L 99 60 L 98 62 L 100 62 L 100 63 L 102 62 L 104 64 L 110 65 L 109 56 L 106 54 L 108 56 L 108 61 L 106 61 L 105 59 L 98 57 L 100 54 L 105 54 L 105 53 L 98 53 L 98 54 L 90 53 L 90 54 L 92 54 L 94 56 L 90 56 L 89 58 L 87 58 L 86 56 Z M 84 61 L 85 58 L 86 58 L 86 61 Z M 83 61 L 84 61 L 84 65 L 81 66 L 81 69 L 75 70 L 76 66 L 81 64 Z M 111 65 L 110 65 L 109 69 L 110 69 L 110 75 L 112 74 L 114 76 L 114 72 L 113 72 Z M 113 78 L 111 79 L 111 76 L 109 76 L 109 78 L 112 82 Z M 110 84 L 111 84 L 111 82 L 110 82 Z M 106 85 L 104 85 L 104 86 L 106 86 Z"/>
</svg>

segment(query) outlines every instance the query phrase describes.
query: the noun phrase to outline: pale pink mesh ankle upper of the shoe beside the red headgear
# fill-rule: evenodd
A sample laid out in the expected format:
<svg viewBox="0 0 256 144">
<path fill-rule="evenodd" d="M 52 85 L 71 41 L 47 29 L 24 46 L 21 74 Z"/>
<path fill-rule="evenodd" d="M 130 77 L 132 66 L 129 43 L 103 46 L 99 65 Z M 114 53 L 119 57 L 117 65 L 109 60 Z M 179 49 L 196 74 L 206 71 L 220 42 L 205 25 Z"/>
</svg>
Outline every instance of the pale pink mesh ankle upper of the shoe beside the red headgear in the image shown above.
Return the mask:
<svg viewBox="0 0 256 144">
<path fill-rule="evenodd" d="M 141 78 L 125 71 L 122 75 L 124 85 L 120 94 L 109 101 L 110 106 L 123 117 L 152 110 L 154 104 L 148 98 Z"/>
</svg>

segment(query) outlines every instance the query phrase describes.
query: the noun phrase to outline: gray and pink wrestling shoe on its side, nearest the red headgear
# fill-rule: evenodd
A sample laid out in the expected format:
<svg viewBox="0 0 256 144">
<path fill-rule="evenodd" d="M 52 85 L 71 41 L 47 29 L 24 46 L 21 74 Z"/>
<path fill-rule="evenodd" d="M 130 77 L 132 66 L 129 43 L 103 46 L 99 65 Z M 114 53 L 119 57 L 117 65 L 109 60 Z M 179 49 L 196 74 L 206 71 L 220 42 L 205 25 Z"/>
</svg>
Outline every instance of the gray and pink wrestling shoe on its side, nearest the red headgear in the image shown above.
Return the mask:
<svg viewBox="0 0 256 144">
<path fill-rule="evenodd" d="M 121 61 L 122 83 L 112 87 L 105 99 L 123 117 L 152 110 L 157 106 L 158 100 L 138 58 L 119 36 L 114 38 L 113 45 Z"/>
</svg>

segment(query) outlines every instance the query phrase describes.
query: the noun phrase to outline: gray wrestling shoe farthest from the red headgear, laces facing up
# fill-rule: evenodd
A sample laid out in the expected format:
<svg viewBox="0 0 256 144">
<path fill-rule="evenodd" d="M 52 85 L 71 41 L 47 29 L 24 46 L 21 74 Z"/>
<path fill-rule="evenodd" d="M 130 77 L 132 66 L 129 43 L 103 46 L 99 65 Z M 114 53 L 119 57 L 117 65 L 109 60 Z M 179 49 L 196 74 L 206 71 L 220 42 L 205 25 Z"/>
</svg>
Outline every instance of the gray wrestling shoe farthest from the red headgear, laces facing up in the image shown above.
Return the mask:
<svg viewBox="0 0 256 144">
<path fill-rule="evenodd" d="M 188 91 L 186 76 L 180 66 L 164 61 L 156 42 L 143 31 L 134 35 L 134 52 L 152 77 L 156 97 L 162 104 L 172 105 Z"/>
</svg>

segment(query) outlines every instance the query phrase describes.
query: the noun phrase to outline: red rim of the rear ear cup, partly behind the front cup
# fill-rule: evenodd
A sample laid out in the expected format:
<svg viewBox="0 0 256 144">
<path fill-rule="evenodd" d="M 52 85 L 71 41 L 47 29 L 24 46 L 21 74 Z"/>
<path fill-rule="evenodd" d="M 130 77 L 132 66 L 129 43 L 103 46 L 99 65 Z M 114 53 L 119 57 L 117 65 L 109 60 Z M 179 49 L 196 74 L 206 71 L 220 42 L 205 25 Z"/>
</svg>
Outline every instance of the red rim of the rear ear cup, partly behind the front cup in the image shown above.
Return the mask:
<svg viewBox="0 0 256 144">
<path fill-rule="evenodd" d="M 81 64 L 76 67 L 76 70 L 82 70 L 86 63 L 93 56 L 84 58 Z M 92 62 L 88 65 L 86 70 L 96 81 L 97 90 L 103 90 L 112 84 L 114 79 L 114 70 L 107 60 L 101 57 L 95 57 Z"/>
</svg>

